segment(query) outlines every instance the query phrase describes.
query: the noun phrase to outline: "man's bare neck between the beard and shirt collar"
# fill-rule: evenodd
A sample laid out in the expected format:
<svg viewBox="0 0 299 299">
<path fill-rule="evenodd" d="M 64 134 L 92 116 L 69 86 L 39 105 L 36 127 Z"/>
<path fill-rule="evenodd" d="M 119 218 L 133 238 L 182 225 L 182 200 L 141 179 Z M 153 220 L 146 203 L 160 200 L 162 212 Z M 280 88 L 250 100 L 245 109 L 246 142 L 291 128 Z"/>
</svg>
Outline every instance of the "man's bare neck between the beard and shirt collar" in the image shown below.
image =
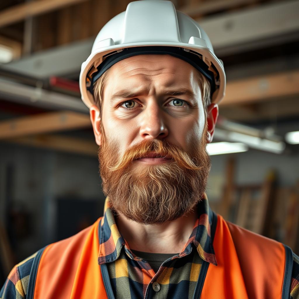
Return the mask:
<svg viewBox="0 0 299 299">
<path fill-rule="evenodd" d="M 161 225 L 143 225 L 117 213 L 118 230 L 129 245 L 137 251 L 151 253 L 180 253 L 188 241 L 198 215 L 196 208 L 186 215 Z"/>
</svg>

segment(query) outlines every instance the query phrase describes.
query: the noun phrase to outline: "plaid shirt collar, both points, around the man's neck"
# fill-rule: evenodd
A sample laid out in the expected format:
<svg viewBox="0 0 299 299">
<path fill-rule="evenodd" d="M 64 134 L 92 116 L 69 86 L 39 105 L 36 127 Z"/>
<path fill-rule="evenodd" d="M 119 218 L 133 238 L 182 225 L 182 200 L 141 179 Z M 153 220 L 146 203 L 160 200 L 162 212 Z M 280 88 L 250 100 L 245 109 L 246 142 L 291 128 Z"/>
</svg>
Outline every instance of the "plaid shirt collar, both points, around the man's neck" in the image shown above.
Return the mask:
<svg viewBox="0 0 299 299">
<path fill-rule="evenodd" d="M 192 245 L 194 245 L 202 260 L 217 266 L 215 251 L 211 239 L 213 212 L 209 206 L 206 193 L 204 193 L 202 200 L 198 203 L 197 211 L 198 219 L 196 220 L 192 234 L 185 244 L 183 251 L 179 254 L 179 257 L 189 254 L 192 251 Z M 104 216 L 102 217 L 99 225 L 99 241 L 99 264 L 114 262 L 117 260 L 123 247 L 128 256 L 135 259 L 128 244 L 125 239 L 123 239 L 116 226 L 108 196 L 105 200 Z"/>
</svg>

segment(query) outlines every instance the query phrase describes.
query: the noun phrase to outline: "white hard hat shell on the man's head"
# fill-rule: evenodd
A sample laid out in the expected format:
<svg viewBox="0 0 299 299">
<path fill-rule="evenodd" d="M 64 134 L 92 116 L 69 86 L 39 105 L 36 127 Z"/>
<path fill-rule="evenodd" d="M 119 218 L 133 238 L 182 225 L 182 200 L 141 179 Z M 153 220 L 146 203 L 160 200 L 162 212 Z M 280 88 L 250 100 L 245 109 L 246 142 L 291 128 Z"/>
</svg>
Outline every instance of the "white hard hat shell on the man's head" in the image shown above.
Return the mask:
<svg viewBox="0 0 299 299">
<path fill-rule="evenodd" d="M 128 4 L 126 11 L 113 17 L 97 34 L 91 54 L 82 63 L 81 98 L 86 106 L 94 104 L 87 90 L 87 75 L 103 62 L 103 56 L 124 48 L 140 46 L 175 46 L 195 51 L 215 74 L 216 90 L 212 102 L 219 103 L 225 95 L 223 62 L 214 54 L 208 35 L 186 14 L 177 11 L 171 1 L 141 0 Z"/>
</svg>

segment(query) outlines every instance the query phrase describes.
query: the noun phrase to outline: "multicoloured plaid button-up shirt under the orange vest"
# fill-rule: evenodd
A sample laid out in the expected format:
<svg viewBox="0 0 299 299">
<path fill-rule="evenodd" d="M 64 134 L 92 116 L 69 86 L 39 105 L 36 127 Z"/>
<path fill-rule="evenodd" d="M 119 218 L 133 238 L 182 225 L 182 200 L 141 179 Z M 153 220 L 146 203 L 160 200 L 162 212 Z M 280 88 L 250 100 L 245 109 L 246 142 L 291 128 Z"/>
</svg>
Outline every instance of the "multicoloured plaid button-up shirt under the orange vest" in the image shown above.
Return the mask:
<svg viewBox="0 0 299 299">
<path fill-rule="evenodd" d="M 135 256 L 121 236 L 106 199 L 100 225 L 99 264 L 106 264 L 115 298 L 193 298 L 202 262 L 217 264 L 211 242 L 212 211 L 206 195 L 199 203 L 193 232 L 178 255 L 167 259 L 155 273 L 145 260 Z M 0 291 L 2 299 L 26 298 L 36 253 L 16 265 Z M 161 287 L 155 292 L 151 282 Z M 299 257 L 293 254 L 290 299 L 299 299 Z"/>
</svg>

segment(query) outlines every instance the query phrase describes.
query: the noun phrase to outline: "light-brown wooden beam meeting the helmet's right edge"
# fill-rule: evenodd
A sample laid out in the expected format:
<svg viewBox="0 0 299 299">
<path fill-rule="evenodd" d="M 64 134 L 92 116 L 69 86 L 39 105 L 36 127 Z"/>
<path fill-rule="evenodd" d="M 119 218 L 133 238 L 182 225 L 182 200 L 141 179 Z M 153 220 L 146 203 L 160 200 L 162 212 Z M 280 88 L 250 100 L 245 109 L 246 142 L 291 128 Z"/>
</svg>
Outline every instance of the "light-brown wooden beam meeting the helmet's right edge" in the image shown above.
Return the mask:
<svg viewBox="0 0 299 299">
<path fill-rule="evenodd" d="M 299 94 L 298 82 L 298 70 L 230 81 L 220 105 L 253 103 Z"/>
</svg>

